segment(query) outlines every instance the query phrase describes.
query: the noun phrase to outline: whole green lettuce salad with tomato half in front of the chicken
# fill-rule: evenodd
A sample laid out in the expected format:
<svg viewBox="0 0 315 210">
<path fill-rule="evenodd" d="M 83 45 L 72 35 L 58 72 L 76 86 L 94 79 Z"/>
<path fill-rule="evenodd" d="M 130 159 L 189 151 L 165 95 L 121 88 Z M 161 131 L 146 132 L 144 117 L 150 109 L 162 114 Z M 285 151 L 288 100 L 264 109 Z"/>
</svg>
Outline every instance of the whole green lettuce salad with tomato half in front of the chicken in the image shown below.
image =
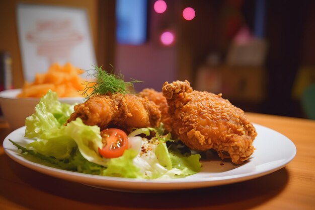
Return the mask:
<svg viewBox="0 0 315 210">
<path fill-rule="evenodd" d="M 74 105 L 60 103 L 52 91 L 26 118 L 26 147 L 10 141 L 24 155 L 35 156 L 64 170 L 137 179 L 172 179 L 201 170 L 200 155 L 158 128 L 100 130 L 76 118 L 66 124 Z M 104 139 L 107 144 L 104 146 Z M 13 139 L 14 140 L 14 139 Z M 110 144 L 109 144 L 110 143 Z"/>
</svg>

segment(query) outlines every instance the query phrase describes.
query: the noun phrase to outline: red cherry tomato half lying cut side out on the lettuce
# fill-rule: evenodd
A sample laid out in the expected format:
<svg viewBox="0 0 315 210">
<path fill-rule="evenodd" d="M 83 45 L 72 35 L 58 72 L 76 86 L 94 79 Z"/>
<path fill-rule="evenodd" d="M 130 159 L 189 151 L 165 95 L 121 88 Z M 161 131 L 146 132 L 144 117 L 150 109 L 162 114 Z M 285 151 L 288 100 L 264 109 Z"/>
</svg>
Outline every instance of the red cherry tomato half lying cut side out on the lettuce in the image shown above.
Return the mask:
<svg viewBox="0 0 315 210">
<path fill-rule="evenodd" d="M 118 158 L 128 149 L 127 134 L 117 128 L 108 128 L 101 131 L 103 148 L 99 153 L 104 158 Z"/>
</svg>

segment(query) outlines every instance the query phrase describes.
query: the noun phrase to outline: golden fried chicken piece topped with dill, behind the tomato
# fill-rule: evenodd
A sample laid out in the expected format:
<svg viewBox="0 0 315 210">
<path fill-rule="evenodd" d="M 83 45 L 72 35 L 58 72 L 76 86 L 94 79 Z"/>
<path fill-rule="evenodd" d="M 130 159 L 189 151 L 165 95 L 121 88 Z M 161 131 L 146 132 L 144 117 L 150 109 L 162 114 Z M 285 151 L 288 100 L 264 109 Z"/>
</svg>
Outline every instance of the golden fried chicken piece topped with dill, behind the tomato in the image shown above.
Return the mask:
<svg viewBox="0 0 315 210">
<path fill-rule="evenodd" d="M 67 122 L 80 117 L 86 125 L 131 128 L 157 127 L 161 112 L 153 102 L 133 94 L 106 94 L 93 96 L 85 103 L 74 106 L 74 112 Z"/>
</svg>

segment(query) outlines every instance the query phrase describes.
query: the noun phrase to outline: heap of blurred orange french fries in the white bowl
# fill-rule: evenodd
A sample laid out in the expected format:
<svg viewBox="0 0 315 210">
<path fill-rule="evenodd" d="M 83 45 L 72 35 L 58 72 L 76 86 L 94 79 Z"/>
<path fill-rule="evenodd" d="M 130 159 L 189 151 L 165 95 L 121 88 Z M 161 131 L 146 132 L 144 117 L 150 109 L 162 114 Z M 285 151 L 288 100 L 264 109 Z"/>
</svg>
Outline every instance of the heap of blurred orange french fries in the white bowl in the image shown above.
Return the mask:
<svg viewBox="0 0 315 210">
<path fill-rule="evenodd" d="M 69 62 L 63 66 L 53 63 L 47 73 L 37 73 L 33 83 L 25 82 L 18 97 L 41 98 L 48 90 L 56 92 L 58 97 L 83 96 L 84 89 L 87 87 L 86 80 L 80 77 L 83 73 L 83 70 Z M 88 90 L 88 94 L 91 91 L 92 88 Z"/>
</svg>

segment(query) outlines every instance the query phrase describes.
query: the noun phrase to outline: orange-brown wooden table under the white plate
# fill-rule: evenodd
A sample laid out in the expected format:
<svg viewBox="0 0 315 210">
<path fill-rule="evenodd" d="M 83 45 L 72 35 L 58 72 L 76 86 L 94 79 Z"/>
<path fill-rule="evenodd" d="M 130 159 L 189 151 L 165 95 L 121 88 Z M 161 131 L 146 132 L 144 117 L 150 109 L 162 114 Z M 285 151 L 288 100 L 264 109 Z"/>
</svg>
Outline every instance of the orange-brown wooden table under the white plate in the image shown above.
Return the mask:
<svg viewBox="0 0 315 210">
<path fill-rule="evenodd" d="M 314 209 L 315 121 L 247 115 L 252 122 L 277 130 L 294 142 L 297 155 L 285 168 L 217 187 L 124 193 L 43 175 L 11 160 L 0 147 L 0 209 Z M 6 123 L 0 123 L 0 132 L 3 141 L 10 132 Z"/>
</svg>

